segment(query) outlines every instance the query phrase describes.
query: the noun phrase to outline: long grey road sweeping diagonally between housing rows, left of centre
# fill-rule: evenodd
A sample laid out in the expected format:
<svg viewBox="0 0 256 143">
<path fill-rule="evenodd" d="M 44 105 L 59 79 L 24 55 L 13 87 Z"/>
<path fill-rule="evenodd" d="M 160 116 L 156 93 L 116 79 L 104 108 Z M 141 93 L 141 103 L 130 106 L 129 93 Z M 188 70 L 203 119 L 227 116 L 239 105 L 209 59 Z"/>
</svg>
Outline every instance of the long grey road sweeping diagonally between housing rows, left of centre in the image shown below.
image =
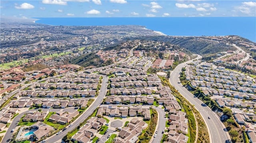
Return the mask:
<svg viewBox="0 0 256 143">
<path fill-rule="evenodd" d="M 97 97 L 97 99 L 94 101 L 94 103 L 86 110 L 86 112 L 84 112 L 81 116 L 79 116 L 73 122 L 73 125 L 71 127 L 68 127 L 65 131 L 62 131 L 62 133 L 60 133 L 59 135 L 56 135 L 56 134 L 52 135 L 51 137 L 46 139 L 46 142 L 56 143 L 57 141 L 62 139 L 69 131 L 71 131 L 72 129 L 78 127 L 78 125 L 82 121 L 84 121 L 84 119 L 88 118 L 94 112 L 94 110 L 100 105 L 100 103 L 102 102 L 103 98 L 105 97 L 106 89 L 107 89 L 107 83 L 108 83 L 108 77 L 107 76 L 103 76 L 102 86 L 100 88 L 100 94 Z"/>
</svg>

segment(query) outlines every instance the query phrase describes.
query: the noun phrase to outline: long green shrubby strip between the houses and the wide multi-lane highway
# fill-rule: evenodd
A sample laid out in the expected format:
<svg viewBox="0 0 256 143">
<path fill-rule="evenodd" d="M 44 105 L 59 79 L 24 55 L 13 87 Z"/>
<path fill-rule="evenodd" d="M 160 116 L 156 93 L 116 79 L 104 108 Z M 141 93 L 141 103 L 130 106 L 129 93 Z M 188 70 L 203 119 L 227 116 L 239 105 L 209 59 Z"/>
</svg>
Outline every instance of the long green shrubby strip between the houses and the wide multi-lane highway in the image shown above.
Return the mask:
<svg viewBox="0 0 256 143">
<path fill-rule="evenodd" d="M 169 86 L 170 89 L 172 90 L 172 94 L 177 98 L 177 101 L 179 104 L 184 108 L 186 112 L 186 116 L 188 117 L 188 126 L 189 126 L 189 131 L 188 131 L 188 137 L 190 139 L 188 140 L 188 143 L 194 143 L 196 140 L 196 121 L 198 122 L 198 139 L 197 141 L 199 142 L 204 142 L 204 143 L 210 143 L 210 137 L 209 133 L 206 127 L 206 124 L 204 123 L 204 119 L 200 115 L 200 113 L 196 110 L 196 108 L 186 100 L 168 81 L 167 78 L 164 77 L 159 77 L 161 79 L 162 84 L 164 86 Z M 194 117 L 194 114 L 195 117 Z M 195 119 L 196 118 L 196 119 Z M 190 134 L 190 135 L 189 135 Z"/>
</svg>

